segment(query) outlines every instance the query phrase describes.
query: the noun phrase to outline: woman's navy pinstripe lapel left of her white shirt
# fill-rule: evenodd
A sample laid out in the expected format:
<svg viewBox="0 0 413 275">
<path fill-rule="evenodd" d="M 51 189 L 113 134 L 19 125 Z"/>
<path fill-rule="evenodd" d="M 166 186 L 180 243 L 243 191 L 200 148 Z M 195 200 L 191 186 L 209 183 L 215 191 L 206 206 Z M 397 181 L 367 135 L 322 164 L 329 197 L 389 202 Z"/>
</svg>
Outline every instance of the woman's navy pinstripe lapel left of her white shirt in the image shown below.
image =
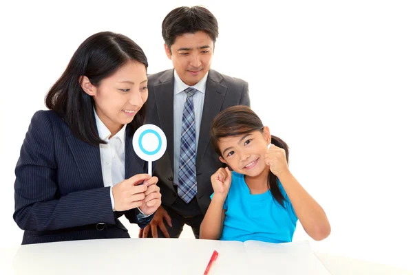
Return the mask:
<svg viewBox="0 0 413 275">
<path fill-rule="evenodd" d="M 99 146 L 92 146 L 70 134 L 66 137 L 81 177 L 89 188 L 103 187 Z"/>
</svg>

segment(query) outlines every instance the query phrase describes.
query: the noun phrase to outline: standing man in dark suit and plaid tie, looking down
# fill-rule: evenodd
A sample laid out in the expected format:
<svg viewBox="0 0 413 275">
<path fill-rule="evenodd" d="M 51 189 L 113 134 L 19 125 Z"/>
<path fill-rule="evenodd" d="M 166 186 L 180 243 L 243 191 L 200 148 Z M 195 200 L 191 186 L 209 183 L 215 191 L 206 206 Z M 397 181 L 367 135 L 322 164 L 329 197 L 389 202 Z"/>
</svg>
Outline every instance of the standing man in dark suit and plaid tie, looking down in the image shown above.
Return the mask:
<svg viewBox="0 0 413 275">
<path fill-rule="evenodd" d="M 149 76 L 147 101 L 147 123 L 160 126 L 168 141 L 154 172 L 162 207 L 140 236 L 177 238 L 187 224 L 199 238 L 213 192 L 210 178 L 221 166 L 209 144 L 211 121 L 223 109 L 250 105 L 248 83 L 210 69 L 218 22 L 206 8 L 172 10 L 162 36 L 174 69 Z"/>
</svg>

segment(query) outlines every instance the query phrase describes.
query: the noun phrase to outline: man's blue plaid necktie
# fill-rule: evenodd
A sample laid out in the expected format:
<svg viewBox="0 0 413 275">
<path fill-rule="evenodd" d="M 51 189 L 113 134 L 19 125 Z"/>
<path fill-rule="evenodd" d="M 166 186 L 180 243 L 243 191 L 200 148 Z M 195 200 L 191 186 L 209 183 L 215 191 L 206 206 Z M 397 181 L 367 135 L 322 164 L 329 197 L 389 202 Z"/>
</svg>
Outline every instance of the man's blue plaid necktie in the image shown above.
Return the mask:
<svg viewBox="0 0 413 275">
<path fill-rule="evenodd" d="M 187 100 L 182 113 L 181 148 L 178 172 L 178 195 L 189 203 L 196 195 L 196 132 L 195 110 L 193 108 L 193 95 L 197 89 L 187 88 Z"/>
</svg>

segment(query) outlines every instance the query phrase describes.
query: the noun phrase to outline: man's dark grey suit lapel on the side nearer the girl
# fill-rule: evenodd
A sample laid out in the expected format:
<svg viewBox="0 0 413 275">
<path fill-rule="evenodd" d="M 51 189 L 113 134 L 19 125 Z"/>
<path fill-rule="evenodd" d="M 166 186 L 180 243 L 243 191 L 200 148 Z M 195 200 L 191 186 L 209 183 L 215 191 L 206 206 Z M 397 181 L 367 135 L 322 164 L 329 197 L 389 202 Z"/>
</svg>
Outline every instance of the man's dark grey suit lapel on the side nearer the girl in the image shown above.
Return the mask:
<svg viewBox="0 0 413 275">
<path fill-rule="evenodd" d="M 205 91 L 204 108 L 202 110 L 202 121 L 200 128 L 200 137 L 198 140 L 198 149 L 196 154 L 196 168 L 199 169 L 200 161 L 204 156 L 205 150 L 209 144 L 209 131 L 211 122 L 215 115 L 218 115 L 224 102 L 226 87 L 221 85 L 222 76 L 210 70 L 207 78 L 207 89 Z"/>
</svg>

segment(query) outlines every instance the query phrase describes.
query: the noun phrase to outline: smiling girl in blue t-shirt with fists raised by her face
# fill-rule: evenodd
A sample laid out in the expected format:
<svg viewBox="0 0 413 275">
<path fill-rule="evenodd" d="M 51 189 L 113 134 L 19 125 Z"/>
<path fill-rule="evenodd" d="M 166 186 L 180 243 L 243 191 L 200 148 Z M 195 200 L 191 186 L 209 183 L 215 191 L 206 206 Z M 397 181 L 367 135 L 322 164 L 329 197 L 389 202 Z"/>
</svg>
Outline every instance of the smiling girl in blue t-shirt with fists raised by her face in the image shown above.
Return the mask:
<svg viewBox="0 0 413 275">
<path fill-rule="evenodd" d="M 200 239 L 290 242 L 297 219 L 316 241 L 330 234 L 323 208 L 288 169 L 287 144 L 250 108 L 218 114 L 211 142 L 227 167 L 211 176 L 214 193 Z"/>
</svg>

